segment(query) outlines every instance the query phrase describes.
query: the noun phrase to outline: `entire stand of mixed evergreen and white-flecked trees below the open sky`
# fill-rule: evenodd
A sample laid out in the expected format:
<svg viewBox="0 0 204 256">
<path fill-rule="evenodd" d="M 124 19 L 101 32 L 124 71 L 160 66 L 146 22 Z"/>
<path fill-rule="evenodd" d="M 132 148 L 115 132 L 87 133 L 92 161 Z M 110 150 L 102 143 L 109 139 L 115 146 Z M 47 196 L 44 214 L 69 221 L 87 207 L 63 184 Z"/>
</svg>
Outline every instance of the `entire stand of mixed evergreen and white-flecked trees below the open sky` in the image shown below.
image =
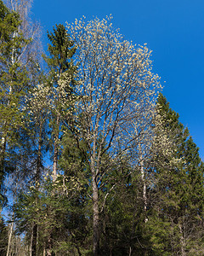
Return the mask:
<svg viewBox="0 0 204 256">
<path fill-rule="evenodd" d="M 0 0 L 0 255 L 204 255 L 204 166 L 147 46 Z"/>
</svg>

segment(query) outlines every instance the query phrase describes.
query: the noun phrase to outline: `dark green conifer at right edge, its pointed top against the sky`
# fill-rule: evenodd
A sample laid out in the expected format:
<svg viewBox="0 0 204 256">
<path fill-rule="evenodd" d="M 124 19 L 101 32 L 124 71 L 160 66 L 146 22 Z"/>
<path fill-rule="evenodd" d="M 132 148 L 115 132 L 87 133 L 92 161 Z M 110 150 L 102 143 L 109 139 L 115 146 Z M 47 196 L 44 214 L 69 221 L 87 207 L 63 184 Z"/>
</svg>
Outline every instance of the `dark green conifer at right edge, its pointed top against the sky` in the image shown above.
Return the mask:
<svg viewBox="0 0 204 256">
<path fill-rule="evenodd" d="M 204 213 L 203 163 L 188 129 L 161 94 L 154 131 L 150 163 L 154 183 L 150 188 L 148 225 L 153 250 L 157 255 L 186 255 L 197 247 L 201 253 L 203 230 L 198 230 Z"/>
</svg>

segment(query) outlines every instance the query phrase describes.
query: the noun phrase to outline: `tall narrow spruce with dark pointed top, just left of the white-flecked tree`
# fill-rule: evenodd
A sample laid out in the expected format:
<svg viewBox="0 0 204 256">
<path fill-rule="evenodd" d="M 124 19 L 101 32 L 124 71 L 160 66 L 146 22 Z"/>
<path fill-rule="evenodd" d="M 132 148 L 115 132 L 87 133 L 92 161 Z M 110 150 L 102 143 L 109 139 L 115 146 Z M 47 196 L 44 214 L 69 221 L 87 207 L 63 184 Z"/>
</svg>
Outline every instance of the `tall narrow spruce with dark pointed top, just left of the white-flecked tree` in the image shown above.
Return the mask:
<svg viewBox="0 0 204 256">
<path fill-rule="evenodd" d="M 49 57 L 45 56 L 45 61 L 49 67 L 48 84 L 51 87 L 50 125 L 54 139 L 53 176 L 55 180 L 59 159 L 59 133 L 62 116 L 71 106 L 71 84 L 74 84 L 73 77 L 76 67 L 71 60 L 75 53 L 74 44 L 66 32 L 65 26 L 56 25 L 54 32 L 48 32 L 48 39 L 51 44 L 48 44 Z"/>
</svg>

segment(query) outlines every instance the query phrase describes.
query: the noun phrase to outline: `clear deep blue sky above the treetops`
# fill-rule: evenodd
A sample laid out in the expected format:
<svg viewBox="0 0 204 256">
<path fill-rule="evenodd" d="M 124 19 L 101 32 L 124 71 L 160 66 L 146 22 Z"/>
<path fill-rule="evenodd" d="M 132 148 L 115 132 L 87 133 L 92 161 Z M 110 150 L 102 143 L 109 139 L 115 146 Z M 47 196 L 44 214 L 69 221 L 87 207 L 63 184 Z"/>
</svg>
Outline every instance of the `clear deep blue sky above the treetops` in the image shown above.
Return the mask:
<svg viewBox="0 0 204 256">
<path fill-rule="evenodd" d="M 163 94 L 204 160 L 204 0 L 33 0 L 32 13 L 44 35 L 55 24 L 82 15 L 88 20 L 112 15 L 113 25 L 127 40 L 147 43 Z"/>
</svg>

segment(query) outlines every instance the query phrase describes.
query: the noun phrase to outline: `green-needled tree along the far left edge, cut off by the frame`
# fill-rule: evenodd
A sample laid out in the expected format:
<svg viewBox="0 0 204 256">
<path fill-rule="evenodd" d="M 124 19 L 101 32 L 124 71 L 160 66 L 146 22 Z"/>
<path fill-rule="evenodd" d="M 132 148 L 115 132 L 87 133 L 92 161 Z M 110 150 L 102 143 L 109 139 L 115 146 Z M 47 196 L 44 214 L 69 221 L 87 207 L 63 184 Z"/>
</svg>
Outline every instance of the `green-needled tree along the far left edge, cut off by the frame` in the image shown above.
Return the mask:
<svg viewBox="0 0 204 256">
<path fill-rule="evenodd" d="M 26 39 L 21 35 L 14 38 L 14 33 L 20 24 L 19 16 L 6 8 L 2 1 L 0 5 L 2 18 L 0 26 L 0 166 L 3 176 L 7 143 L 11 141 L 12 131 L 21 123 L 20 99 L 23 85 L 26 88 L 26 76 L 25 68 L 15 62 L 15 59 L 20 56 L 20 50 L 26 44 Z"/>
</svg>

